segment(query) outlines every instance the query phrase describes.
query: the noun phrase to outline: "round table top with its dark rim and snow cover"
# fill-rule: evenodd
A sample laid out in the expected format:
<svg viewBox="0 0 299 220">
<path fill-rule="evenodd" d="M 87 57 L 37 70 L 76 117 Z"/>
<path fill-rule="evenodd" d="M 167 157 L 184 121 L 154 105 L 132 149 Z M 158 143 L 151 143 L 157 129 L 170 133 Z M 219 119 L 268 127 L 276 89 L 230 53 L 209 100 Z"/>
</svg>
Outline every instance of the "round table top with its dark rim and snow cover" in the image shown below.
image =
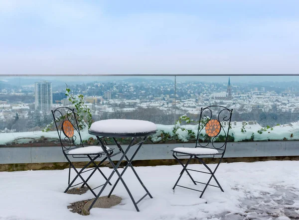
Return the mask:
<svg viewBox="0 0 299 220">
<path fill-rule="evenodd" d="M 88 133 L 106 137 L 141 137 L 154 134 L 156 125 L 146 120 L 107 119 L 92 123 Z"/>
</svg>

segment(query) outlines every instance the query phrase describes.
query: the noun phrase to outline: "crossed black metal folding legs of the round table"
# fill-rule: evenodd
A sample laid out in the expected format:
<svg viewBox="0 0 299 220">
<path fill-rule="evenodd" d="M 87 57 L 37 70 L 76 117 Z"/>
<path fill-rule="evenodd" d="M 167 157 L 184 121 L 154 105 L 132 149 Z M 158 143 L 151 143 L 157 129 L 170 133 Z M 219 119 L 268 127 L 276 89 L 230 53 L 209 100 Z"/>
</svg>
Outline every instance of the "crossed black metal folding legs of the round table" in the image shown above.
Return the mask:
<svg viewBox="0 0 299 220">
<path fill-rule="evenodd" d="M 132 141 L 130 142 L 130 144 L 128 145 L 127 149 L 124 150 L 123 147 L 120 145 L 120 143 L 116 140 L 116 137 L 119 137 L 120 134 L 108 134 L 108 136 L 112 137 L 114 142 L 116 143 L 117 147 L 119 148 L 119 152 L 116 152 L 115 154 L 113 155 L 110 155 L 108 153 L 108 151 L 106 150 L 106 147 L 103 143 L 103 141 L 101 140 L 102 138 L 100 138 L 99 136 L 102 136 L 103 134 L 100 134 L 100 133 L 97 133 L 95 131 L 90 131 L 90 133 L 93 133 L 94 135 L 96 135 L 97 139 L 99 140 L 106 156 L 108 157 L 108 160 L 110 162 L 110 164 L 112 165 L 113 167 L 113 171 L 111 173 L 111 175 L 108 177 L 108 180 L 106 181 L 106 183 L 104 184 L 103 188 L 101 189 L 101 191 L 99 192 L 99 194 L 97 195 L 96 199 L 93 201 L 93 203 L 90 205 L 89 209 L 88 210 L 91 210 L 92 207 L 94 206 L 94 204 L 96 203 L 97 199 L 100 197 L 100 195 L 102 194 L 102 192 L 104 191 L 105 187 L 107 186 L 108 182 L 110 181 L 110 179 L 112 178 L 112 176 L 114 175 L 114 173 L 116 173 L 118 175 L 118 179 L 116 181 L 116 183 L 114 184 L 113 188 L 111 189 L 110 193 L 108 194 L 108 198 L 111 196 L 111 194 L 113 193 L 116 185 L 118 184 L 119 181 L 121 181 L 125 187 L 125 189 L 127 190 L 137 212 L 139 212 L 139 208 L 137 206 L 138 203 L 140 203 L 146 196 L 149 196 L 150 198 L 152 198 L 151 194 L 149 193 L 148 189 L 146 188 L 146 186 L 144 185 L 144 183 L 142 182 L 142 180 L 140 179 L 140 177 L 138 176 L 136 170 L 134 169 L 133 165 L 132 165 L 132 161 L 134 159 L 134 157 L 136 156 L 136 154 L 138 153 L 138 151 L 140 150 L 140 148 L 142 147 L 143 143 L 146 141 L 146 139 L 148 138 L 149 135 L 155 133 L 155 131 L 152 131 L 152 132 L 148 132 L 148 133 L 135 133 L 135 134 L 126 134 L 127 137 L 132 137 Z M 137 137 L 142 137 L 142 141 L 138 142 L 138 143 L 135 143 L 136 140 L 137 140 Z M 129 150 L 131 149 L 131 147 L 134 147 L 134 146 L 138 146 L 137 149 L 135 150 L 135 152 L 133 153 L 133 156 L 129 159 L 127 157 L 127 153 L 129 152 Z M 119 159 L 118 163 L 115 165 L 111 159 L 112 156 L 116 155 L 116 154 L 119 154 L 119 153 L 122 153 L 123 155 L 121 156 L 121 158 Z M 128 163 L 127 165 L 124 167 L 124 170 L 122 171 L 122 173 L 120 173 L 117 169 L 119 168 L 121 162 L 123 160 L 126 160 Z M 130 192 L 127 184 L 125 183 L 124 179 L 123 179 L 123 175 L 124 173 L 126 172 L 127 168 L 128 167 L 131 167 L 131 169 L 133 170 L 135 176 L 137 177 L 138 181 L 140 182 L 140 184 L 143 186 L 143 188 L 145 189 L 145 191 L 147 192 L 140 200 L 138 200 L 137 202 L 135 202 L 135 199 L 133 198 L 133 195 L 132 193 Z"/>
</svg>

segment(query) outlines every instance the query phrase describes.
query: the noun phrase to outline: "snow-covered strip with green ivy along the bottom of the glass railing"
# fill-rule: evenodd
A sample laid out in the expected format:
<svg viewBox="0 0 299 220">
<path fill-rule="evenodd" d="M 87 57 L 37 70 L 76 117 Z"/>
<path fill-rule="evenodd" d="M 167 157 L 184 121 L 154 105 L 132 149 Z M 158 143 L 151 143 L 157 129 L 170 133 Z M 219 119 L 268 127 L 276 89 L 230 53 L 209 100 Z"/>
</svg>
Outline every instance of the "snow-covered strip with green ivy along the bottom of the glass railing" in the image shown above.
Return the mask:
<svg viewBox="0 0 299 220">
<path fill-rule="evenodd" d="M 225 121 L 221 123 L 223 127 L 228 126 L 228 123 Z M 198 124 L 181 125 L 179 121 L 174 125 L 156 124 L 156 133 L 151 135 L 149 139 L 155 144 L 174 142 L 175 139 L 177 139 L 178 142 L 194 142 L 197 129 Z M 205 134 L 204 132 L 205 130 L 203 129 L 201 131 L 202 137 Z M 87 127 L 80 131 L 80 133 L 82 140 L 95 138 L 94 135 L 88 133 Z M 224 135 L 224 133 L 220 134 Z M 252 140 L 299 140 L 299 121 L 289 124 L 278 124 L 273 127 L 262 127 L 256 121 L 233 121 L 231 123 L 229 135 L 229 140 L 235 142 Z M 56 130 L 49 132 L 31 131 L 0 133 L 0 147 L 56 146 L 59 144 Z"/>
</svg>

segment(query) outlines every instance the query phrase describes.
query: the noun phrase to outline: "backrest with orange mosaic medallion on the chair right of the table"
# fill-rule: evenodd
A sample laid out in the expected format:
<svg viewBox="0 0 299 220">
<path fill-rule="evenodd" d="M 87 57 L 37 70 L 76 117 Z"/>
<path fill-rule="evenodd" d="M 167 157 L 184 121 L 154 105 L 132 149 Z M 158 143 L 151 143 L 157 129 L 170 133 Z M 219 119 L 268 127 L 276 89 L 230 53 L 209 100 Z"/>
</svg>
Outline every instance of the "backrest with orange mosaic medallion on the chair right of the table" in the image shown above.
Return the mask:
<svg viewBox="0 0 299 220">
<path fill-rule="evenodd" d="M 201 108 L 195 147 L 226 149 L 233 110 L 223 106 Z"/>
</svg>

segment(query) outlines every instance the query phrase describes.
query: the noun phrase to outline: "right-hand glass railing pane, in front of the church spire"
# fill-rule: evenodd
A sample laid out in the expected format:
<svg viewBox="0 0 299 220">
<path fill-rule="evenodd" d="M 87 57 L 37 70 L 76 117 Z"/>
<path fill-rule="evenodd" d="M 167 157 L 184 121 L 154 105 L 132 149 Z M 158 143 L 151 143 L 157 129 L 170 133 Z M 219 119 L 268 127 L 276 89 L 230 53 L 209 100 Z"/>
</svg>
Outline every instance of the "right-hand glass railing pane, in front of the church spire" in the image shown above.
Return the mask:
<svg viewBox="0 0 299 220">
<path fill-rule="evenodd" d="M 296 76 L 178 76 L 176 115 L 196 121 L 201 107 L 225 106 L 233 109 L 231 141 L 298 140 L 297 85 Z"/>
</svg>

